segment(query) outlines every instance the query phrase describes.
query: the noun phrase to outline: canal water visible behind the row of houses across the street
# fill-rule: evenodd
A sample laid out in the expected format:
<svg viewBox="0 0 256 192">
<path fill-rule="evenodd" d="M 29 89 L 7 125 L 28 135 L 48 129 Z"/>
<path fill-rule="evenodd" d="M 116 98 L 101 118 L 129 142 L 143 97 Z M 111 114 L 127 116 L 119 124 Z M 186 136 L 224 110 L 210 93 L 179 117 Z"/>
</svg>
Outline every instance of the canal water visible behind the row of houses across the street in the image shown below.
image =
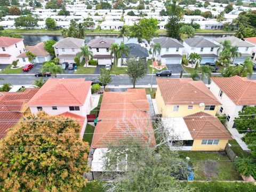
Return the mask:
<svg viewBox="0 0 256 192">
<path fill-rule="evenodd" d="M 195 37 L 199 37 L 199 36 L 204 37 L 211 42 L 213 42 L 214 38 L 223 37 L 223 35 L 195 35 Z M 115 39 L 116 43 L 123 42 L 123 38 L 118 38 L 116 36 L 86 36 L 85 42 L 89 43 L 91 39 L 100 38 L 100 37 Z M 43 35 L 43 36 L 23 35 L 23 39 L 24 39 L 23 42 L 25 45 L 36 45 L 37 43 L 48 41 L 48 40 L 54 40 L 58 42 L 62 38 L 63 37 L 61 36 L 49 36 L 49 35 Z M 124 43 L 138 43 L 138 41 L 137 41 L 137 38 L 131 38 L 131 39 L 124 38 Z"/>
</svg>

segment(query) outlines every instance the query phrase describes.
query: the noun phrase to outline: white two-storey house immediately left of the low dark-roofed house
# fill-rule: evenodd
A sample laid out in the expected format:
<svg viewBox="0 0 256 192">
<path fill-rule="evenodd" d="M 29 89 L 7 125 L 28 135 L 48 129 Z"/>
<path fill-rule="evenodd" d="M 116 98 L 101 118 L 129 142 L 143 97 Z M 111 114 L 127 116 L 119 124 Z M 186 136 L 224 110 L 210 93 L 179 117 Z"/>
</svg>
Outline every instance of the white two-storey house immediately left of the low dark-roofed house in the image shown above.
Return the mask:
<svg viewBox="0 0 256 192">
<path fill-rule="evenodd" d="M 92 39 L 88 46 L 93 53 L 93 60 L 98 61 L 98 65 L 106 65 L 114 62 L 114 57 L 110 54 L 111 51 L 109 50 L 112 43 L 115 43 L 114 39 L 108 38 L 95 38 Z"/>
</svg>

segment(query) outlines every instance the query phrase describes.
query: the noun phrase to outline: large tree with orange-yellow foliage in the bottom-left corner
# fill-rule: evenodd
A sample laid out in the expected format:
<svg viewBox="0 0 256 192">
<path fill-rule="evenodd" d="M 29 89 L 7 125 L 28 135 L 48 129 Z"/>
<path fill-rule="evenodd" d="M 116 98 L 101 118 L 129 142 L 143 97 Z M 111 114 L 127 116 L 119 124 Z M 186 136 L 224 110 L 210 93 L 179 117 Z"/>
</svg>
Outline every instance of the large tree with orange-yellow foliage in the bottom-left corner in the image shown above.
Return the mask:
<svg viewBox="0 0 256 192">
<path fill-rule="evenodd" d="M 46 113 L 25 118 L 0 142 L 8 149 L 16 146 L 11 153 L 0 151 L 2 190 L 81 191 L 90 147 L 79 138 L 77 121 Z"/>
</svg>

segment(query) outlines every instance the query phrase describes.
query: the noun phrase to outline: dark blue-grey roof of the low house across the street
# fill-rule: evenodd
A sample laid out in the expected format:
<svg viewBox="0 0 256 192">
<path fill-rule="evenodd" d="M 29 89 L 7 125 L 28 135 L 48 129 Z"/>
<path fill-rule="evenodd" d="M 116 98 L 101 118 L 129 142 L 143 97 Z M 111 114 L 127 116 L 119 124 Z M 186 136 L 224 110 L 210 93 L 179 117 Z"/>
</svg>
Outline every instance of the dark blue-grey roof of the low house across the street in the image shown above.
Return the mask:
<svg viewBox="0 0 256 192">
<path fill-rule="evenodd" d="M 142 47 L 140 44 L 137 43 L 127 43 L 125 46 L 129 46 L 130 54 L 128 57 L 149 57 L 148 50 L 146 47 Z M 123 58 L 127 58 L 125 54 L 122 53 Z"/>
</svg>

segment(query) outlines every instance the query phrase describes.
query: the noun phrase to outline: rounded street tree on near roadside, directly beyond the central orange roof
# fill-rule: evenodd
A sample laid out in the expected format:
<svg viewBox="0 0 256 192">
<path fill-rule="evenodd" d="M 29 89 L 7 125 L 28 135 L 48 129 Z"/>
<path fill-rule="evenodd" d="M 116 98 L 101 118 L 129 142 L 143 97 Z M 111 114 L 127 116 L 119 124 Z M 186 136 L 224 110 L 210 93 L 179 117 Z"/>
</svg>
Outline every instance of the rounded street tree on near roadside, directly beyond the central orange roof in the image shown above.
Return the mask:
<svg viewBox="0 0 256 192">
<path fill-rule="evenodd" d="M 126 65 L 127 75 L 131 78 L 133 88 L 135 88 L 135 83 L 147 74 L 148 65 L 146 61 L 143 61 L 142 59 L 137 61 L 135 58 L 127 59 Z"/>
</svg>

